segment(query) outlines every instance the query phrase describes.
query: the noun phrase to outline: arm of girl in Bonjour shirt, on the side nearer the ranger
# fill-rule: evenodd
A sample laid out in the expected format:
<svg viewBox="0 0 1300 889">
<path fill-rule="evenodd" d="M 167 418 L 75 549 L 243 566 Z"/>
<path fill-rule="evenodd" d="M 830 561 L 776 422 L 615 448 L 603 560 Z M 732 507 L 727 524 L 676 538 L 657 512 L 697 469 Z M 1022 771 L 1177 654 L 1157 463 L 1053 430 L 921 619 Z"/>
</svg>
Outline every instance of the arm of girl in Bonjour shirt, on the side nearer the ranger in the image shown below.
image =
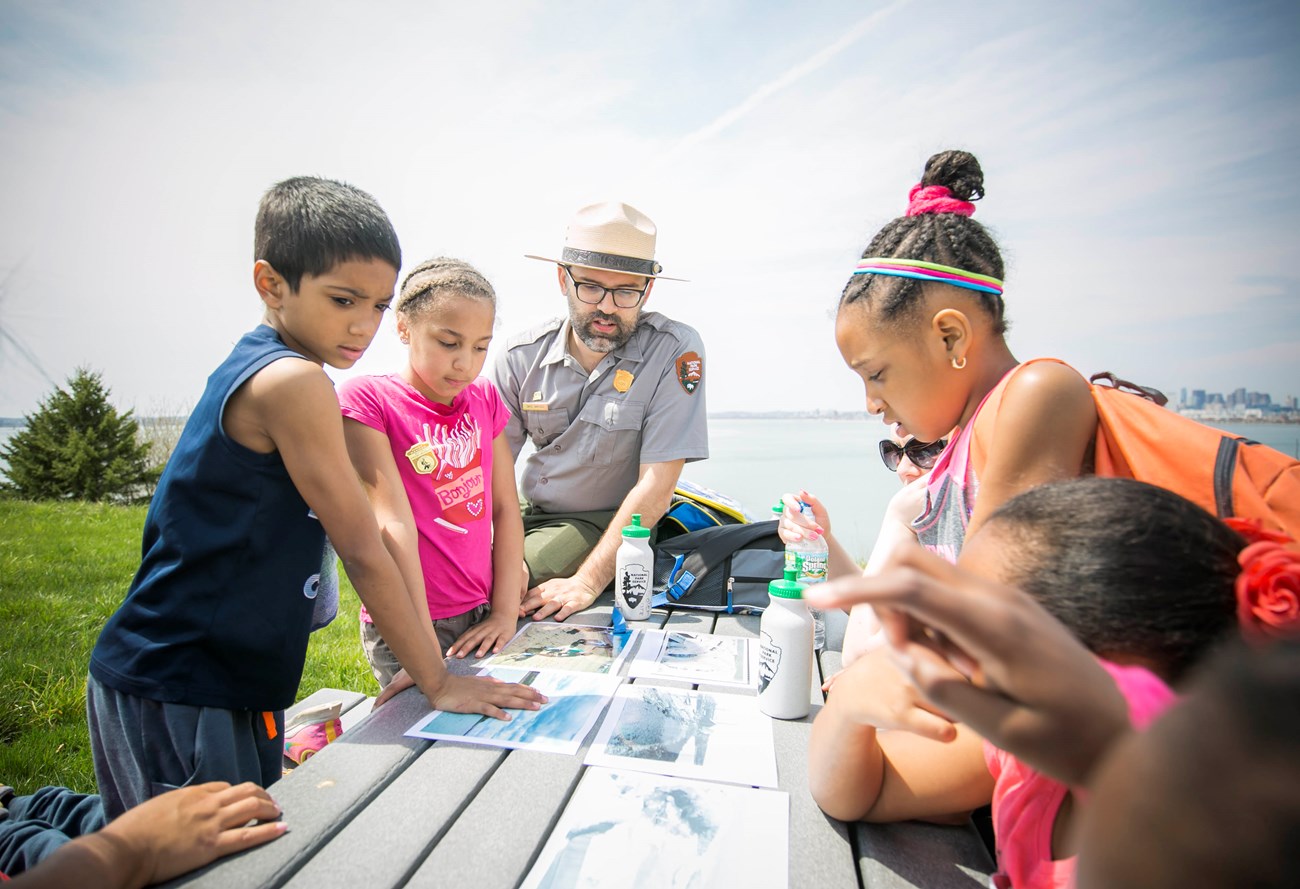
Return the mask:
<svg viewBox="0 0 1300 889">
<path fill-rule="evenodd" d="M 491 457 L 491 615 L 465 630 L 448 655 L 482 658 L 500 651 L 519 625 L 524 587 L 524 520 L 519 515 L 515 464 L 502 433 L 493 439 Z"/>
</svg>

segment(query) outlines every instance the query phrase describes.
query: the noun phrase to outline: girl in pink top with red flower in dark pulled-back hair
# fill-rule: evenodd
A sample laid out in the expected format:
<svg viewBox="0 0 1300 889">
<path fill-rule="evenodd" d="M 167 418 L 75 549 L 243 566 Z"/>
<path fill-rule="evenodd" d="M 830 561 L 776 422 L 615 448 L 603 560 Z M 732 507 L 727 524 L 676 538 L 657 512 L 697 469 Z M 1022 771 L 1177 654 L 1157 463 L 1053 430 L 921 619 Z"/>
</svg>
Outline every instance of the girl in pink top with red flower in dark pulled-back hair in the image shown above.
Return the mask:
<svg viewBox="0 0 1300 889">
<path fill-rule="evenodd" d="M 1244 546 L 1176 494 L 1088 477 L 1005 503 L 967 542 L 962 563 L 1028 593 L 1104 659 L 1140 728 L 1234 630 Z M 840 673 L 814 723 L 810 784 L 822 808 L 844 820 L 965 821 L 992 803 L 994 885 L 1069 885 L 1069 828 L 1083 801 L 927 710 L 888 656 L 870 652 Z"/>
</svg>

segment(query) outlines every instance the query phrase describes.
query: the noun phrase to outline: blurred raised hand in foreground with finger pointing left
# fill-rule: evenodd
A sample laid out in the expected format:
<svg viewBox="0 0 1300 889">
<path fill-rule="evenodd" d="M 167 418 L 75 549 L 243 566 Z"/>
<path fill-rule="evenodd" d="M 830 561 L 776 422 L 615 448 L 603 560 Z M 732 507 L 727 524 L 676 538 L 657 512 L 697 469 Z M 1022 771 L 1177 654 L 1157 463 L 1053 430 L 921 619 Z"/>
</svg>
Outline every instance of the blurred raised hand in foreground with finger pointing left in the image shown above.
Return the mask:
<svg viewBox="0 0 1300 889">
<path fill-rule="evenodd" d="M 1084 784 L 1128 727 L 1114 681 L 1037 602 L 919 547 L 805 598 L 875 607 L 894 662 L 930 703 L 1058 780 Z"/>
</svg>

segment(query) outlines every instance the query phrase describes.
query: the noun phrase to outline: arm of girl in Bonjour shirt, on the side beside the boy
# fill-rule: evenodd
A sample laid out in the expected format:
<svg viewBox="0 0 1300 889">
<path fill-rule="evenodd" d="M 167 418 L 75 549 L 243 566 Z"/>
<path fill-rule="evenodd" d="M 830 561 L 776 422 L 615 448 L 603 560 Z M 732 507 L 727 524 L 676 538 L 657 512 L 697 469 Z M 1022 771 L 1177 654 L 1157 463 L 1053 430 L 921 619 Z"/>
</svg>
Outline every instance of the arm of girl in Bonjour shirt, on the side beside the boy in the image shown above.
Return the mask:
<svg viewBox="0 0 1300 889">
<path fill-rule="evenodd" d="M 343 417 L 343 438 L 347 442 L 347 455 L 352 460 L 361 480 L 361 487 L 374 509 L 374 520 L 380 526 L 380 537 L 393 560 L 402 572 L 402 581 L 416 612 L 426 613 L 429 600 L 425 597 L 424 571 L 420 567 L 420 534 L 415 526 L 411 502 L 402 483 L 402 474 L 393 460 L 389 437 L 364 422 Z M 438 637 L 430 625 L 429 636 L 434 645 Z"/>
</svg>

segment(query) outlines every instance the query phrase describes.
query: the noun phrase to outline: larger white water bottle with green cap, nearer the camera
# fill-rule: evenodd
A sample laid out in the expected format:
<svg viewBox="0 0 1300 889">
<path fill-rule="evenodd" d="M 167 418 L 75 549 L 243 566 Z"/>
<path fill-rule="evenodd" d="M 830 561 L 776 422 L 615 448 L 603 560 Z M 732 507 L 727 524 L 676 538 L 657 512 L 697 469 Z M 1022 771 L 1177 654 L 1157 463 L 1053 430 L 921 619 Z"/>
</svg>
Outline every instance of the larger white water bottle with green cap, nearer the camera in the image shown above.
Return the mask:
<svg viewBox="0 0 1300 889">
<path fill-rule="evenodd" d="M 802 719 L 812 710 L 812 615 L 793 569 L 770 582 L 767 595 L 758 624 L 758 708 L 775 719 Z"/>
</svg>

